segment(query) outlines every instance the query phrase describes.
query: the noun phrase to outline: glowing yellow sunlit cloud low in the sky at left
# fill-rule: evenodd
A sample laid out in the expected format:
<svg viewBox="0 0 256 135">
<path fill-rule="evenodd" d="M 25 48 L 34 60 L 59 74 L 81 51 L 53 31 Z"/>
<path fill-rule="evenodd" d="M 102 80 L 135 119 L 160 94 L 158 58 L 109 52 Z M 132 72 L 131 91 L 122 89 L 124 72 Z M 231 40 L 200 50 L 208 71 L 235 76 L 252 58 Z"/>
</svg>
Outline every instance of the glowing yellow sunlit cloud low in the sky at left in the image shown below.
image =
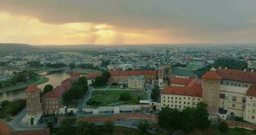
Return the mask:
<svg viewBox="0 0 256 135">
<path fill-rule="evenodd" d="M 122 30 L 107 24 L 48 24 L 30 16 L 0 13 L 0 43 L 31 45 L 168 43 L 161 32 Z"/>
</svg>

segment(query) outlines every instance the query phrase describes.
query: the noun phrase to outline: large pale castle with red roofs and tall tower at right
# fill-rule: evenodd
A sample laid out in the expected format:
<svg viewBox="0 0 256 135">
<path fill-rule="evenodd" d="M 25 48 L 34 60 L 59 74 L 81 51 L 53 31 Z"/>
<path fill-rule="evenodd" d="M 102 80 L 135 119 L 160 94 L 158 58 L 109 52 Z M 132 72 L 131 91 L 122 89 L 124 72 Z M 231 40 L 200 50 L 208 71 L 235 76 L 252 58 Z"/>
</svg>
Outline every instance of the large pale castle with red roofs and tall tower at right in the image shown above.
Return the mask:
<svg viewBox="0 0 256 135">
<path fill-rule="evenodd" d="M 161 91 L 161 107 L 182 110 L 199 101 L 208 105 L 210 119 L 242 117 L 256 124 L 256 72 L 212 68 L 201 80 L 173 78 Z"/>
</svg>

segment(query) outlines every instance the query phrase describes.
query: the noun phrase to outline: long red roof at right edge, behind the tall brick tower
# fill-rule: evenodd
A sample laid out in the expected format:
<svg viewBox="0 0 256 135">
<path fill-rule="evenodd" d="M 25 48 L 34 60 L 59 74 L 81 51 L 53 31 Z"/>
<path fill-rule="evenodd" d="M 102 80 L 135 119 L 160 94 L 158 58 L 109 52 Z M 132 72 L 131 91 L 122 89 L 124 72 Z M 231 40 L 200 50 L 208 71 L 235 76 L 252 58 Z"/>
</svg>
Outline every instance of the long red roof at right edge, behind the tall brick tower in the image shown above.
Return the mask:
<svg viewBox="0 0 256 135">
<path fill-rule="evenodd" d="M 216 73 L 226 80 L 256 83 L 256 72 L 232 69 L 217 69 Z"/>
</svg>

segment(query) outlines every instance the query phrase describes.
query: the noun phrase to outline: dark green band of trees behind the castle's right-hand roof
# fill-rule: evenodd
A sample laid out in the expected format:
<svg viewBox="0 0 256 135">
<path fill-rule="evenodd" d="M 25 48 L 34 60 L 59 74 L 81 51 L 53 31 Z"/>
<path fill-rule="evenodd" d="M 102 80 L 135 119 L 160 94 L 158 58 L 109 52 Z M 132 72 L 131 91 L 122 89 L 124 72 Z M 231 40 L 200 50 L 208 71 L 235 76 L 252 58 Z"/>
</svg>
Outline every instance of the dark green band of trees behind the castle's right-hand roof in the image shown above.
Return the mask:
<svg viewBox="0 0 256 135">
<path fill-rule="evenodd" d="M 228 68 L 228 69 L 236 69 L 236 70 L 244 70 L 247 68 L 246 61 L 240 61 L 232 58 L 220 58 L 217 59 L 213 64 L 209 64 L 205 66 L 205 68 L 201 68 L 195 72 L 199 77 L 203 76 L 206 72 L 208 72 L 212 67 L 214 68 Z"/>
</svg>

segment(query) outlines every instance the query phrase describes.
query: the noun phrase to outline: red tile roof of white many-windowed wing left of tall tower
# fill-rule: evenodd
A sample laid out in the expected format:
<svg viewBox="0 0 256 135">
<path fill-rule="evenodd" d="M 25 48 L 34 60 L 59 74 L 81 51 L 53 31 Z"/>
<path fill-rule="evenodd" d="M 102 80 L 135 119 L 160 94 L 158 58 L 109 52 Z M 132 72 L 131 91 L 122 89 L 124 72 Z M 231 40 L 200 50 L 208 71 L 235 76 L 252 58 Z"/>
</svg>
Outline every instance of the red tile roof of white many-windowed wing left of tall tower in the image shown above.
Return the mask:
<svg viewBox="0 0 256 135">
<path fill-rule="evenodd" d="M 188 86 L 165 86 L 161 94 L 178 94 L 182 96 L 202 97 L 202 84 L 200 80 L 191 81 Z"/>
</svg>

